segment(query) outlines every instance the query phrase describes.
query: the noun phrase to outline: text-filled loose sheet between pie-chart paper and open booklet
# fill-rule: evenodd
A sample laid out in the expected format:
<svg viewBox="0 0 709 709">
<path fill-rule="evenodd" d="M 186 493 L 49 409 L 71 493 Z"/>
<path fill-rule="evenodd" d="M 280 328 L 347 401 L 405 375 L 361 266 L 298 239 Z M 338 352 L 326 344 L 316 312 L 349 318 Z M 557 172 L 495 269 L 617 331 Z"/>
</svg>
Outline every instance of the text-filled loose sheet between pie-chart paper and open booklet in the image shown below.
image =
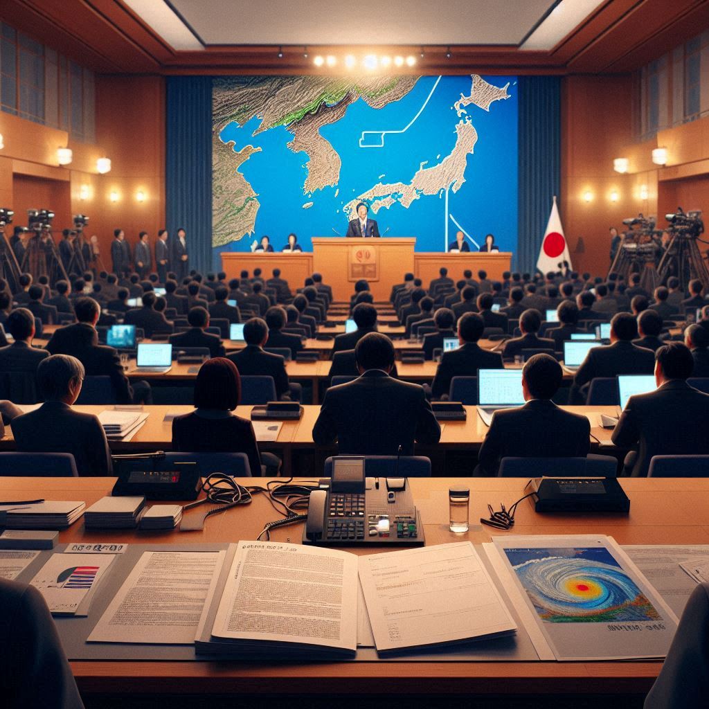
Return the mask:
<svg viewBox="0 0 709 709">
<path fill-rule="evenodd" d="M 225 552 L 145 552 L 86 642 L 194 643 Z"/>
</svg>

